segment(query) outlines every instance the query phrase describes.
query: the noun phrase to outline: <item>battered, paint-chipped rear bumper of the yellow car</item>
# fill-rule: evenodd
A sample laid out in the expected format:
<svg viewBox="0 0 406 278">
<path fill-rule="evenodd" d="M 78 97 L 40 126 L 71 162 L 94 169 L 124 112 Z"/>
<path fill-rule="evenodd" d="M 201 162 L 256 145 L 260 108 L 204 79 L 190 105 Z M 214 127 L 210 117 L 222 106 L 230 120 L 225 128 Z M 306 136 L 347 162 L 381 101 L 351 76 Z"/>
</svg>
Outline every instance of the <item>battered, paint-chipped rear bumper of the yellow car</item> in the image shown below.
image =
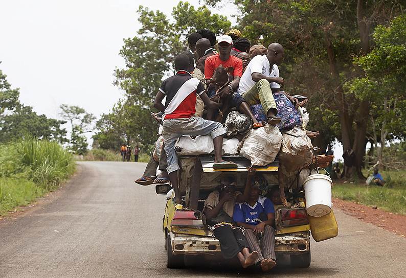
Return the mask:
<svg viewBox="0 0 406 278">
<path fill-rule="evenodd" d="M 216 238 L 208 237 L 172 237 L 172 251 L 175 254 L 218 254 L 220 242 Z M 308 238 L 294 236 L 275 237 L 276 253 L 300 253 L 310 250 Z"/>
</svg>

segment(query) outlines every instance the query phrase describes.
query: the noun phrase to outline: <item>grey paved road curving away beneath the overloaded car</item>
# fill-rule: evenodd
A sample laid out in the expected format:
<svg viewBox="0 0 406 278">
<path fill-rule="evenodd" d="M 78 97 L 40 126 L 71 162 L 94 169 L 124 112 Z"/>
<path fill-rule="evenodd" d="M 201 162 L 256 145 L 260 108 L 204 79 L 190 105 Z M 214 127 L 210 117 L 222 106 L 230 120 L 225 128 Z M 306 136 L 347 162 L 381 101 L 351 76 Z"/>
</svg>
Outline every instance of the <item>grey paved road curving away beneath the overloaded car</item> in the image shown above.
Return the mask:
<svg viewBox="0 0 406 278">
<path fill-rule="evenodd" d="M 406 239 L 336 212 L 339 237 L 312 242 L 308 269 L 272 274 L 167 269 L 165 197 L 133 183 L 145 164 L 86 162 L 58 198 L 0 222 L 0 278 L 18 277 L 406 277 Z M 406 224 L 406 223 L 405 223 Z"/>
</svg>

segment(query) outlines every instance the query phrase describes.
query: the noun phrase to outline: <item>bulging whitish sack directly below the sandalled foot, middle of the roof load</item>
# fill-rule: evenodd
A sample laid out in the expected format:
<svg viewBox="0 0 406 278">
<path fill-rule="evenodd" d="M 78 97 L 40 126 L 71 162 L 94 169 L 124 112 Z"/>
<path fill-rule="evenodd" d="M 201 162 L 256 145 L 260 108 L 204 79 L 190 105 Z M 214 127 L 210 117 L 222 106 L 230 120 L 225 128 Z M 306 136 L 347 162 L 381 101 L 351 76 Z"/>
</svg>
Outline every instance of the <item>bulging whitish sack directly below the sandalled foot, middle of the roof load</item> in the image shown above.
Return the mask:
<svg viewBox="0 0 406 278">
<path fill-rule="evenodd" d="M 240 154 L 251 160 L 253 166 L 273 163 L 282 143 L 278 127 L 266 125 L 252 129 L 245 137 Z"/>
</svg>

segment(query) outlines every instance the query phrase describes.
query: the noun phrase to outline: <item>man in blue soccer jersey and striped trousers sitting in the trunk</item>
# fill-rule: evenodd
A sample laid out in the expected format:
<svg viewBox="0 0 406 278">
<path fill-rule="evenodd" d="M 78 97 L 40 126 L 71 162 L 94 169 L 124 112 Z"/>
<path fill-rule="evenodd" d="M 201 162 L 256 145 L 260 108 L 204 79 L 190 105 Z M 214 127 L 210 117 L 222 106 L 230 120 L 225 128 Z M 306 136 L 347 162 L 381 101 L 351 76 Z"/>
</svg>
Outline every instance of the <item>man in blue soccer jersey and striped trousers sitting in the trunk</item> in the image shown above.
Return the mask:
<svg viewBox="0 0 406 278">
<path fill-rule="evenodd" d="M 263 271 L 268 271 L 276 265 L 275 229 L 272 227 L 275 225 L 275 209 L 272 201 L 259 195 L 265 184 L 262 176 L 254 178 L 249 200 L 235 204 L 233 219 L 238 226 L 245 228 L 244 234 L 251 250 L 258 252 L 256 263 Z"/>
</svg>

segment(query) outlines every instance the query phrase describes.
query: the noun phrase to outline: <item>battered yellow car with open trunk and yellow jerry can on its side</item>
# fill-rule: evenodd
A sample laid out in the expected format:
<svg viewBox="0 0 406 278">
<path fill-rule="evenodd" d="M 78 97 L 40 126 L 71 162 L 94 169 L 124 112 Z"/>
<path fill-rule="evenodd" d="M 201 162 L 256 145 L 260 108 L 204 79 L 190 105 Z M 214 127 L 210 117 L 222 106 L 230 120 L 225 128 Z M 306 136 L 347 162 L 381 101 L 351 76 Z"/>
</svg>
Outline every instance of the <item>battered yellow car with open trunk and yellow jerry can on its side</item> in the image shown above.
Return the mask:
<svg viewBox="0 0 406 278">
<path fill-rule="evenodd" d="M 168 268 L 181 268 L 185 265 L 185 260 L 193 257 L 202 258 L 205 262 L 214 264 L 224 261 L 220 253 L 219 241 L 213 236 L 205 215 L 202 214 L 204 202 L 218 185 L 218 180 L 225 175 L 233 175 L 237 181 L 237 189 L 243 190 L 251 161 L 240 155 L 223 156 L 225 160 L 236 163 L 238 168 L 215 170 L 212 168 L 213 158 L 213 155 L 179 156 L 179 164 L 182 165 L 179 175 L 179 187 L 183 195 L 182 204 L 174 204 L 172 201 L 174 194 L 169 184 L 155 186 L 156 193 L 164 194 L 167 198 L 162 229 Z M 314 172 L 320 166 L 317 160 L 317 157 L 314 156 L 313 163 L 306 169 L 308 171 L 305 175 L 310 176 L 311 174 L 312 176 L 308 180 L 314 181 L 318 178 L 317 173 Z M 332 157 L 330 163 L 331 160 Z M 319 159 L 319 161 L 326 164 L 325 158 Z M 269 184 L 278 185 L 278 158 L 273 163 L 257 166 L 255 169 L 257 173 L 261 173 L 265 177 Z M 310 169 L 313 170 L 310 171 Z M 310 184 L 306 180 L 303 183 L 306 184 L 305 187 Z M 312 182 L 313 190 L 318 186 L 320 187 L 320 184 Z M 338 227 L 331 204 L 330 211 L 323 204 L 312 206 L 311 210 L 308 207 L 308 211 L 306 211 L 306 195 L 309 193 L 305 193 L 303 184 L 282 188 L 281 191 L 285 195 L 283 197 L 286 198 L 286 202 L 284 202 L 285 205 L 275 206 L 277 261 L 278 258 L 285 255 L 290 257 L 291 266 L 309 267 L 310 236 L 315 241 L 337 236 Z M 317 215 L 318 210 L 322 216 L 308 214 L 309 211 L 312 211 Z"/>
</svg>

